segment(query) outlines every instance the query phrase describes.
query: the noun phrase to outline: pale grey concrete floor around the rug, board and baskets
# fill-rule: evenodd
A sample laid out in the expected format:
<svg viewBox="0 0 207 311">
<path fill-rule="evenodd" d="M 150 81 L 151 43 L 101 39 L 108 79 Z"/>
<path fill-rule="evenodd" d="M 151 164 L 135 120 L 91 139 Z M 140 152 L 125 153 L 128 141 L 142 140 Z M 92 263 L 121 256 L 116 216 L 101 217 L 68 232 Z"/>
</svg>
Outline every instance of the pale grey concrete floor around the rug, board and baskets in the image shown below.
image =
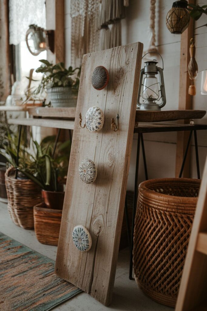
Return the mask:
<svg viewBox="0 0 207 311">
<path fill-rule="evenodd" d="M 20 243 L 39 253 L 56 260 L 56 246 L 44 245 L 38 242 L 34 230 L 24 230 L 16 226 L 10 219 L 7 205 L 0 202 L 0 231 Z M 129 250 L 126 248 L 119 252 L 113 301 L 110 307 L 105 307 L 86 293 L 81 293 L 68 300 L 54 311 L 173 311 L 172 308 L 157 304 L 137 287 L 135 281 L 128 278 Z M 5 310 L 6 311 L 6 310 Z"/>
</svg>

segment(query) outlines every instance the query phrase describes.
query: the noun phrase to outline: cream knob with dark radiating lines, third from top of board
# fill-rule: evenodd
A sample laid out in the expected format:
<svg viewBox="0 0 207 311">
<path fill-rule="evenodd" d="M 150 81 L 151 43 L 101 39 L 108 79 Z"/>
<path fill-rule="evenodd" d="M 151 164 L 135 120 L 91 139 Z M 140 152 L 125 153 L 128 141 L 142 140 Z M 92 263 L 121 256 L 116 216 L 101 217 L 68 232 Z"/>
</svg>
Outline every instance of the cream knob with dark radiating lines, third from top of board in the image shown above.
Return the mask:
<svg viewBox="0 0 207 311">
<path fill-rule="evenodd" d="M 84 159 L 79 166 L 79 176 L 84 183 L 93 183 L 96 180 L 97 170 L 94 162 Z"/>
</svg>

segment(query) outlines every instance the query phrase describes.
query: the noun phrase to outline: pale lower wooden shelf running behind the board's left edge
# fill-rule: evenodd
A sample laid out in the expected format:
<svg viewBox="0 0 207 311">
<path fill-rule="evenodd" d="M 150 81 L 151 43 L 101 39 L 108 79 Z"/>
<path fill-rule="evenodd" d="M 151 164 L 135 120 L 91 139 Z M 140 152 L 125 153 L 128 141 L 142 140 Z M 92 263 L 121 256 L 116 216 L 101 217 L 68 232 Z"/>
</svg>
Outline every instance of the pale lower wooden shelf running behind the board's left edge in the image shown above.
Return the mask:
<svg viewBox="0 0 207 311">
<path fill-rule="evenodd" d="M 58 119 L 39 119 L 39 118 L 17 118 L 8 119 L 9 124 L 42 126 L 46 128 L 65 128 L 74 129 L 74 120 L 58 120 Z"/>
</svg>

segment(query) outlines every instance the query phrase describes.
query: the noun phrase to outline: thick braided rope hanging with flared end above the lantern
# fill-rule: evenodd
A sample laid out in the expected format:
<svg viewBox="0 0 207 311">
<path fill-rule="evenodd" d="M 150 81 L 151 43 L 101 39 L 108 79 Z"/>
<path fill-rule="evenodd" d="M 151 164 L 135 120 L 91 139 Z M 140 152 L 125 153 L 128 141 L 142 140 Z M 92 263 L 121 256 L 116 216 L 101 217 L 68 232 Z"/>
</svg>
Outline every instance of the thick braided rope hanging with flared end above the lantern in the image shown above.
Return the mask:
<svg viewBox="0 0 207 311">
<path fill-rule="evenodd" d="M 157 53 L 158 49 L 155 46 L 156 33 L 155 33 L 155 4 L 156 0 L 150 0 L 150 44 L 149 48 L 144 52 L 144 54 L 151 52 Z"/>
</svg>

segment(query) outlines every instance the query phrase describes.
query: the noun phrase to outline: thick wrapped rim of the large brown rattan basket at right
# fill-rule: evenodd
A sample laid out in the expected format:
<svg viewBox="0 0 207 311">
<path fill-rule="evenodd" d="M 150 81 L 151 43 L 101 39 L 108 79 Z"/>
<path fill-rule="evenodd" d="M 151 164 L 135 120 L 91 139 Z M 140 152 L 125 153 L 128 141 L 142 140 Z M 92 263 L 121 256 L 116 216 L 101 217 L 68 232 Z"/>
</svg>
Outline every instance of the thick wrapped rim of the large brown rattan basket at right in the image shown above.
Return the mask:
<svg viewBox="0 0 207 311">
<path fill-rule="evenodd" d="M 148 179 L 143 181 L 139 184 L 139 191 L 142 193 L 148 193 L 151 197 L 159 200 L 159 197 L 162 196 L 162 201 L 166 202 L 176 202 L 183 203 L 183 200 L 188 200 L 190 204 L 196 204 L 198 197 L 180 197 L 180 196 L 172 196 L 169 194 L 155 192 L 154 190 L 149 189 L 147 186 L 149 184 L 157 184 L 160 185 L 162 183 L 169 183 L 169 182 L 179 182 L 179 183 L 187 183 L 187 184 L 197 184 L 200 185 L 201 179 L 194 179 L 194 178 L 157 178 L 157 179 Z"/>
</svg>

